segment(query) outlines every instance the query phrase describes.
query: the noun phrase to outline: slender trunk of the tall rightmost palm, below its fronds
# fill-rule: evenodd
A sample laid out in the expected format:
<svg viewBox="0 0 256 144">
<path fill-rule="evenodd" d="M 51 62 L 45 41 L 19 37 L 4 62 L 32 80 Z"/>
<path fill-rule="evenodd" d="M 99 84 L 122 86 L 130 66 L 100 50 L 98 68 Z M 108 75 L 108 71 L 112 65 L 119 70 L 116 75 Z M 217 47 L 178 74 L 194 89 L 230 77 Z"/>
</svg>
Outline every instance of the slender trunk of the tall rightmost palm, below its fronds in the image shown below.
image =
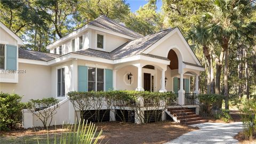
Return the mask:
<svg viewBox="0 0 256 144">
<path fill-rule="evenodd" d="M 228 103 L 228 48 L 225 49 L 225 67 L 224 67 L 224 96 L 225 96 L 225 109 L 229 109 Z"/>
</svg>

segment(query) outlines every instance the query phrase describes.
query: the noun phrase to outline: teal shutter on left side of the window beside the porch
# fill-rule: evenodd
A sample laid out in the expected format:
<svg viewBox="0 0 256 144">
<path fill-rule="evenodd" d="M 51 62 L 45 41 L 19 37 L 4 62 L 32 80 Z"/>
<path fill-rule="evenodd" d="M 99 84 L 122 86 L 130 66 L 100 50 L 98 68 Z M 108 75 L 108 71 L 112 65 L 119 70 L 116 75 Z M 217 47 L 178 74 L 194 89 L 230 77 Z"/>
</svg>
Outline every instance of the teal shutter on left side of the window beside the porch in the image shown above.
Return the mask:
<svg viewBox="0 0 256 144">
<path fill-rule="evenodd" d="M 88 75 L 86 66 L 78 66 L 78 92 L 88 91 Z"/>
</svg>

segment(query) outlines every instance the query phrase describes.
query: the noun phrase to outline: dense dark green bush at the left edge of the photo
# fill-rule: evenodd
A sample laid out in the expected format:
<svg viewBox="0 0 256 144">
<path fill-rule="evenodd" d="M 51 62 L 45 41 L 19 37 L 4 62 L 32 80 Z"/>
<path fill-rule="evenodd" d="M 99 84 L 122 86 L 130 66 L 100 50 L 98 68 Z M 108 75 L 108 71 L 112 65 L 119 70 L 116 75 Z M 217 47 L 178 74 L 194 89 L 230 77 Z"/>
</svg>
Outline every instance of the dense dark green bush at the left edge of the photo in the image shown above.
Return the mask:
<svg viewBox="0 0 256 144">
<path fill-rule="evenodd" d="M 18 94 L 0 93 L 0 131 L 15 128 L 20 123 L 23 103 Z"/>
</svg>

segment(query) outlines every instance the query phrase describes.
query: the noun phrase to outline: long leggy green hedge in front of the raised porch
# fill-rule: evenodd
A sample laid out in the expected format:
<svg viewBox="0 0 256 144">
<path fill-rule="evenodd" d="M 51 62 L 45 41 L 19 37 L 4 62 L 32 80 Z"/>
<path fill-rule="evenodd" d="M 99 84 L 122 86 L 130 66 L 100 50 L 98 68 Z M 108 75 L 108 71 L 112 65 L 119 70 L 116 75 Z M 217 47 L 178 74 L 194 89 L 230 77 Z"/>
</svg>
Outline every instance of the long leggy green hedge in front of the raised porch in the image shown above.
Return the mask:
<svg viewBox="0 0 256 144">
<path fill-rule="evenodd" d="M 161 93 L 161 92 L 141 92 L 141 91 L 100 91 L 100 92 L 69 92 L 69 99 L 73 104 L 75 109 L 78 109 L 80 112 L 80 117 L 77 116 L 77 119 L 83 119 L 85 111 L 94 109 L 95 113 L 90 114 L 92 116 L 97 115 L 99 110 L 103 107 L 102 103 L 105 103 L 105 108 L 109 110 L 119 109 L 121 110 L 122 115 L 117 115 L 122 121 L 125 121 L 124 111 L 127 110 L 127 107 L 130 107 L 130 110 L 134 113 L 142 113 L 144 110 L 150 111 L 150 113 L 155 114 L 157 119 L 162 111 L 169 105 L 172 100 L 175 100 L 175 95 L 173 93 Z M 143 104 L 139 102 L 139 99 L 143 99 Z M 143 105 L 143 108 L 142 108 Z M 145 109 L 144 109 L 145 108 Z M 159 112 L 160 111 L 160 112 Z M 90 113 L 90 112 L 88 112 Z M 151 114 L 148 114 L 151 115 Z M 97 118 L 97 116 L 95 116 Z M 143 119 L 141 117 L 140 121 L 148 122 L 150 117 Z M 158 118 L 159 119 L 159 118 Z M 98 122 L 101 122 L 101 119 L 98 119 Z"/>
</svg>

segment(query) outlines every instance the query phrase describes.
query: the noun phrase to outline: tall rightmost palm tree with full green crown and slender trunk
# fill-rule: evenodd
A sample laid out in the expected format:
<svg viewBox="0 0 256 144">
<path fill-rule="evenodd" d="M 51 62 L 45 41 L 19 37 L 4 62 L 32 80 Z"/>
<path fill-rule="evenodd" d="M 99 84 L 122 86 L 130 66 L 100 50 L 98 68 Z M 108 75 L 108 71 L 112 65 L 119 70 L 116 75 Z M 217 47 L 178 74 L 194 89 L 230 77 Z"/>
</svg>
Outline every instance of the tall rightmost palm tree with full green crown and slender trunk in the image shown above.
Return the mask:
<svg viewBox="0 0 256 144">
<path fill-rule="evenodd" d="M 203 22 L 208 23 L 207 29 L 218 40 L 225 52 L 224 86 L 225 108 L 228 109 L 228 52 L 230 44 L 239 41 L 241 37 L 255 35 L 256 23 L 245 22 L 254 9 L 250 0 L 215 0 L 213 1 L 213 13 L 203 15 Z"/>
</svg>

